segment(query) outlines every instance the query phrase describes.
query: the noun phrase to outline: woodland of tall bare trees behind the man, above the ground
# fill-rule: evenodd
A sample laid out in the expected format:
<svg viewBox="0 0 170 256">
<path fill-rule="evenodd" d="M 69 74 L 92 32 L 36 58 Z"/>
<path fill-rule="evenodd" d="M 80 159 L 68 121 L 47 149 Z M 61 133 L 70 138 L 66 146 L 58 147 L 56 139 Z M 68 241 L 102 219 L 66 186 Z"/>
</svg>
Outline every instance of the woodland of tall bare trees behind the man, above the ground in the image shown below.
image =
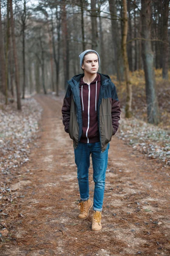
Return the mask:
<svg viewBox="0 0 170 256">
<path fill-rule="evenodd" d="M 95 49 L 99 72 L 113 76 L 126 117 L 136 108 L 132 92 L 144 82 L 138 96 L 145 91 L 147 121 L 162 121 L 164 102 L 157 97 L 166 90 L 170 65 L 169 0 L 1 0 L 0 10 L 0 90 L 6 104 L 17 98 L 21 109 L 26 93 L 59 96 L 82 71 L 79 54 Z"/>
</svg>

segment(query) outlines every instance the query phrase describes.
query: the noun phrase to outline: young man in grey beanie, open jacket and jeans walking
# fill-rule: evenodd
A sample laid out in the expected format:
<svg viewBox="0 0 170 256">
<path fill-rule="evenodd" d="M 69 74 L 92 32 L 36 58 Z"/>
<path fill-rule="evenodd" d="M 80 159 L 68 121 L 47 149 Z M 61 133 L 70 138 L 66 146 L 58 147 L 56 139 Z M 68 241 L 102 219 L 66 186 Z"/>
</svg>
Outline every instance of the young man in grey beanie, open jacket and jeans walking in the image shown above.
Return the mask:
<svg viewBox="0 0 170 256">
<path fill-rule="evenodd" d="M 109 142 L 119 127 L 120 103 L 116 87 L 107 75 L 98 73 L 100 58 L 94 50 L 79 55 L 83 74 L 68 81 L 62 106 L 63 124 L 74 145 L 80 192 L 79 219 L 93 206 L 92 231 L 100 231 Z M 88 169 L 93 163 L 94 204 L 89 199 Z"/>
</svg>

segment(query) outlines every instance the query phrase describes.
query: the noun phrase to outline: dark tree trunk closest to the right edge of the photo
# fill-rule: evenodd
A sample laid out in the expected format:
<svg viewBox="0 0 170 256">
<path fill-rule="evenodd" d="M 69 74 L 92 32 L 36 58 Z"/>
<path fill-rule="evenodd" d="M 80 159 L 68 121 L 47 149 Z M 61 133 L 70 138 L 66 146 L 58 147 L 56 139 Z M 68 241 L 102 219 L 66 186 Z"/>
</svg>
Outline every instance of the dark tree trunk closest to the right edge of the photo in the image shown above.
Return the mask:
<svg viewBox="0 0 170 256">
<path fill-rule="evenodd" d="M 167 42 L 163 43 L 163 55 L 162 55 L 162 78 L 168 80 L 168 68 L 169 68 L 169 41 L 168 41 L 168 12 L 169 12 L 169 0 L 163 0 L 162 4 L 162 40 Z"/>
</svg>

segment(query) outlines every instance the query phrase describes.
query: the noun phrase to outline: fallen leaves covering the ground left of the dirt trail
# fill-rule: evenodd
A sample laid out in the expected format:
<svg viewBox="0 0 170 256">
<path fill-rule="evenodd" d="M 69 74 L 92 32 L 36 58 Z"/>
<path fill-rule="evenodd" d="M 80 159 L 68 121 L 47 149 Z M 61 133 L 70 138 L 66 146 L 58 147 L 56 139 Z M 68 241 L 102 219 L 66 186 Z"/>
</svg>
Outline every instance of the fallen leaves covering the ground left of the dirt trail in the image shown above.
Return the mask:
<svg viewBox="0 0 170 256">
<path fill-rule="evenodd" d="M 38 138 L 38 122 L 41 118 L 41 113 L 41 106 L 31 98 L 22 100 L 21 112 L 17 111 L 14 105 L 10 103 L 8 105 L 3 104 L 3 108 L 0 108 L 1 221 L 12 216 L 13 208 L 18 207 L 16 205 L 17 198 L 25 197 L 25 195 L 19 195 L 17 190 L 30 183 L 30 181 L 20 180 L 20 182 L 13 183 L 13 180 L 17 175 L 21 176 L 20 166 L 30 160 L 29 143 Z M 37 146 L 37 143 L 34 143 L 34 145 Z M 27 173 L 31 175 L 29 170 L 27 170 Z M 7 210 L 9 209 L 8 206 L 10 206 L 9 211 Z M 23 213 L 18 215 L 21 218 L 26 218 Z M 0 230 L 1 241 L 3 241 L 3 236 L 8 236 L 9 234 L 6 225 L 2 222 L 0 223 Z"/>
</svg>

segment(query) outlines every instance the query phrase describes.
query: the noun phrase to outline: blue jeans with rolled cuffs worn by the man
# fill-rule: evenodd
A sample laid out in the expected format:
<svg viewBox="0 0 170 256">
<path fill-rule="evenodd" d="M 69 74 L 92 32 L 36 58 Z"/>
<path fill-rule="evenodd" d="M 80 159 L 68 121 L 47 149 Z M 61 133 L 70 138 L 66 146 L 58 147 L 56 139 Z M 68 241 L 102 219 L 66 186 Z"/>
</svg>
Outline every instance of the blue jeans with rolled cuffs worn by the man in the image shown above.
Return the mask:
<svg viewBox="0 0 170 256">
<path fill-rule="evenodd" d="M 108 165 L 108 149 L 101 153 L 100 142 L 96 143 L 78 143 L 74 149 L 75 163 L 77 165 L 77 179 L 79 182 L 79 192 L 82 201 L 89 198 L 88 169 L 90 167 L 90 154 L 93 163 L 93 180 L 94 180 L 94 205 L 95 211 L 102 211 L 104 191 L 105 191 L 105 174 Z"/>
</svg>

